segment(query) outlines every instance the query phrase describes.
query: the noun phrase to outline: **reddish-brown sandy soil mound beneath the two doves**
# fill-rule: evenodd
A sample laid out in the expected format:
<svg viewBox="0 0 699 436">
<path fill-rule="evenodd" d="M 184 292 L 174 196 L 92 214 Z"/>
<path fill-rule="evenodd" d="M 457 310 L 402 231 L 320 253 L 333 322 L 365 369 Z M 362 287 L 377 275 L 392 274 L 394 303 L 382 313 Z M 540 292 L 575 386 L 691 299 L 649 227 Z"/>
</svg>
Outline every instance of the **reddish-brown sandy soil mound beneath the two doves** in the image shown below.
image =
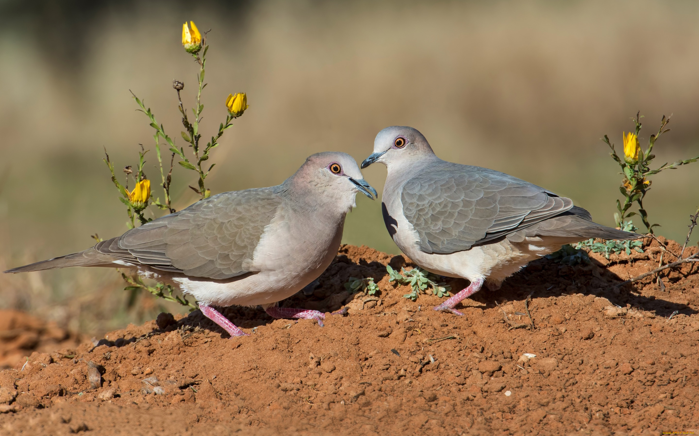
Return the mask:
<svg viewBox="0 0 699 436">
<path fill-rule="evenodd" d="M 0 433 L 699 431 L 699 265 L 663 276 L 664 290 L 651 278 L 615 286 L 654 269 L 661 253 L 674 260 L 677 243 L 661 241 L 630 257 L 591 254 L 592 264 L 538 260 L 502 289 L 464 301 L 464 317 L 432 310 L 436 296 L 403 298 L 409 288 L 389 283 L 385 265 L 406 260 L 355 246 L 341 248 L 312 295 L 283 302 L 349 308 L 346 317 L 328 316 L 323 328 L 226 308 L 251 333 L 229 338 L 198 310 L 179 320 L 161 314 L 94 343 L 55 340 L 55 351 L 39 347 L 27 361 L 22 356 L 43 339 L 29 347 L 17 339 L 20 330 L 39 338 L 51 330 L 38 321 L 19 327 L 3 313 L 3 332 L 17 334 L 15 342 L 1 336 L 3 362 L 12 368 L 0 372 Z M 371 276 L 381 291 L 349 294 L 349 276 Z M 466 284 L 451 282 L 454 290 Z"/>
</svg>

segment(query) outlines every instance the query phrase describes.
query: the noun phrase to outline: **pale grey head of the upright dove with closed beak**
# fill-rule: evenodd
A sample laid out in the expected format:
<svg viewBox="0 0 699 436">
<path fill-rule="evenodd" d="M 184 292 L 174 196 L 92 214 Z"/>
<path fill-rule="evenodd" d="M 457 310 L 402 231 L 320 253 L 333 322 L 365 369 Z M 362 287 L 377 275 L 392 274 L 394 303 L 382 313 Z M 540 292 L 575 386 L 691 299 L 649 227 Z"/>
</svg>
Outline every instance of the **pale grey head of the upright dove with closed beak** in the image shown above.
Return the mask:
<svg viewBox="0 0 699 436">
<path fill-rule="evenodd" d="M 374 152 L 361 163 L 362 168 L 380 162 L 387 167 L 415 164 L 435 158 L 432 147 L 422 133 L 407 126 L 391 126 L 381 130 L 374 140 Z"/>
</svg>

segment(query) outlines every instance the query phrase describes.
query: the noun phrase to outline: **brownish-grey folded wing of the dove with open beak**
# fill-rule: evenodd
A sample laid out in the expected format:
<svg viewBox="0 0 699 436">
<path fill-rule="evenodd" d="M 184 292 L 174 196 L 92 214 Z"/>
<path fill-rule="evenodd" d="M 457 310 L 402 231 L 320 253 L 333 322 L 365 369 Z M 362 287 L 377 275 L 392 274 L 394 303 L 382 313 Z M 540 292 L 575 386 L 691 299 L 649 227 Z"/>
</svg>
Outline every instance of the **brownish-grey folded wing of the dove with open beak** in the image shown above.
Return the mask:
<svg viewBox="0 0 699 436">
<path fill-rule="evenodd" d="M 226 279 L 250 263 L 282 197 L 273 188 L 214 195 L 95 247 L 124 262 L 187 276 Z"/>
</svg>

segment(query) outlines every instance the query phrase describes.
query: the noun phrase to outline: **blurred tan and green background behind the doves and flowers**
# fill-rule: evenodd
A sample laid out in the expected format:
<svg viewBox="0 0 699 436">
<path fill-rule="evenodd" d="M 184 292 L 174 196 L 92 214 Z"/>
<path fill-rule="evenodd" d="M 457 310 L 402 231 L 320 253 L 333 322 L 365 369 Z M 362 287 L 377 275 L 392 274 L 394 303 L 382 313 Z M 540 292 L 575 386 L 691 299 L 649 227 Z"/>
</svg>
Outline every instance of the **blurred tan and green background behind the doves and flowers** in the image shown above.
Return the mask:
<svg viewBox="0 0 699 436">
<path fill-rule="evenodd" d="M 699 154 L 693 1 L 3 0 L 0 16 L 2 269 L 126 230 L 103 147 L 117 168 L 136 164 L 139 143 L 152 149 L 129 89 L 180 136 L 171 83 L 185 82 L 192 107 L 197 70 L 180 45 L 185 20 L 212 29 L 204 137 L 224 119 L 229 92 L 250 103 L 212 152 L 214 193 L 280 183 L 317 151 L 359 162 L 380 129 L 398 124 L 421 130 L 445 160 L 545 186 L 612 225 L 620 176 L 605 133 L 621 147 L 640 110 L 645 146 L 673 114 L 656 163 Z M 156 179 L 154 150 L 148 157 Z M 192 174 L 175 168 L 177 209 L 194 201 Z M 381 192 L 385 168 L 364 174 Z M 699 163 L 652 180 L 651 222 L 684 240 Z M 380 202 L 361 195 L 344 240 L 398 253 Z M 110 269 L 3 275 L 0 307 L 95 334 L 161 309 L 141 298 L 127 310 L 122 287 Z"/>
</svg>

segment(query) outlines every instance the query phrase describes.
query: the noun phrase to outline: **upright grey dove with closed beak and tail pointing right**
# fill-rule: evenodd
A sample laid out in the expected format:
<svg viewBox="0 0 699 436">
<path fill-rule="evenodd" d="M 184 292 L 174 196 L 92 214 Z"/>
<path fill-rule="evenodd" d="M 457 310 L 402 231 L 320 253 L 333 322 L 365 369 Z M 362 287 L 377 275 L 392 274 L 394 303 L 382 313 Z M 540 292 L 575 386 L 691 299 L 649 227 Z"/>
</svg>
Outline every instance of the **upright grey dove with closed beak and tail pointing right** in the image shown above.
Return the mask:
<svg viewBox="0 0 699 436">
<path fill-rule="evenodd" d="M 441 160 L 412 127 L 381 130 L 361 164 L 386 165 L 384 223 L 398 248 L 427 271 L 470 281 L 435 310 L 454 309 L 485 283 L 491 290 L 563 244 L 640 235 L 593 223 L 572 200 L 487 168 Z"/>
</svg>

